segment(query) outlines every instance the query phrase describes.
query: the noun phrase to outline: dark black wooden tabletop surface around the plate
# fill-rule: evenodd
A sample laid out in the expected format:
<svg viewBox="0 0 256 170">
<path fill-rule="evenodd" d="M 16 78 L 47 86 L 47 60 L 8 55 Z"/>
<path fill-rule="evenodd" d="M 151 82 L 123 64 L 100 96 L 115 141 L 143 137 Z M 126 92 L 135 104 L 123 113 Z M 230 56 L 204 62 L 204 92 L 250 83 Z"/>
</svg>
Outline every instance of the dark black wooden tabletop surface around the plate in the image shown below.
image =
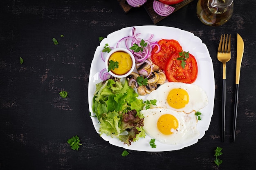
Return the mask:
<svg viewBox="0 0 256 170">
<path fill-rule="evenodd" d="M 254 0 L 235 0 L 225 25 L 210 27 L 196 15 L 197 0 L 157 23 L 194 33 L 207 45 L 215 72 L 215 104 L 209 130 L 197 144 L 170 152 L 122 157 L 94 130 L 88 109 L 90 62 L 99 36 L 121 28 L 152 25 L 144 8 L 125 14 L 116 0 L 0 1 L 0 170 L 252 170 L 256 159 L 256 48 Z M 232 37 L 227 63 L 226 141 L 221 142 L 221 33 Z M 239 86 L 236 143 L 232 143 L 236 34 L 245 42 Z M 64 37 L 61 38 L 60 35 Z M 54 45 L 52 38 L 59 42 Z M 24 59 L 20 64 L 19 58 Z M 65 90 L 69 96 L 59 97 Z M 67 139 L 78 135 L 79 151 Z M 223 163 L 214 164 L 222 147 Z"/>
</svg>

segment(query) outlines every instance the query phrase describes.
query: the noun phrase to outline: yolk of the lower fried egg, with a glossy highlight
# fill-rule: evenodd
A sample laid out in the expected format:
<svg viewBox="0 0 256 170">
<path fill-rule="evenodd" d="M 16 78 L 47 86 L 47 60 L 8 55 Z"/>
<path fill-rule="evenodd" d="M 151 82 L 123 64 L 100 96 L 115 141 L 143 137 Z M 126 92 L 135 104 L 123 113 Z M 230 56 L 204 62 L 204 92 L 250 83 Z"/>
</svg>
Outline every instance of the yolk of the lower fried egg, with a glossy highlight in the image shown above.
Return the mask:
<svg viewBox="0 0 256 170">
<path fill-rule="evenodd" d="M 173 115 L 165 114 L 157 120 L 157 129 L 164 135 L 171 135 L 179 126 L 178 120 Z"/>
</svg>

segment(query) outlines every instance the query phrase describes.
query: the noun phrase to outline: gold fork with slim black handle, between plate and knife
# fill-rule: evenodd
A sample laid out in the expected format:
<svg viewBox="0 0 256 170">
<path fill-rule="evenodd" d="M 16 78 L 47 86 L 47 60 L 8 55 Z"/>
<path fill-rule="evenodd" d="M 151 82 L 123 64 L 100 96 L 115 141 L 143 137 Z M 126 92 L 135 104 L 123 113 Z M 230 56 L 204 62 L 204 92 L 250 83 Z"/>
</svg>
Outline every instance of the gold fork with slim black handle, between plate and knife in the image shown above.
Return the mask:
<svg viewBox="0 0 256 170">
<path fill-rule="evenodd" d="M 222 142 L 224 142 L 225 139 L 225 117 L 226 117 L 226 62 L 228 62 L 231 58 L 231 35 L 226 36 L 225 41 L 225 34 L 223 36 L 223 42 L 222 42 L 222 34 L 220 37 L 220 44 L 218 48 L 218 60 L 222 62 L 223 64 L 223 80 L 222 80 Z"/>
</svg>

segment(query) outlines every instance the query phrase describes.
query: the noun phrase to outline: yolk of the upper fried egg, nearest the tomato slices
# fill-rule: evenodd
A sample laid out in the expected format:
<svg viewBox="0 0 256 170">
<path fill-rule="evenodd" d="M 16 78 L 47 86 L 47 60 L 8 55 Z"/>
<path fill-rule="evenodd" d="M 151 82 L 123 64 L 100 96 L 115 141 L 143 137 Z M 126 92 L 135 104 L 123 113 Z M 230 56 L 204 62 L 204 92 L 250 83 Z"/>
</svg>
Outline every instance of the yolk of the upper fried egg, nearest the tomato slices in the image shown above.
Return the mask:
<svg viewBox="0 0 256 170">
<path fill-rule="evenodd" d="M 189 103 L 189 93 L 182 88 L 174 88 L 169 92 L 167 102 L 173 108 L 184 108 Z"/>
</svg>

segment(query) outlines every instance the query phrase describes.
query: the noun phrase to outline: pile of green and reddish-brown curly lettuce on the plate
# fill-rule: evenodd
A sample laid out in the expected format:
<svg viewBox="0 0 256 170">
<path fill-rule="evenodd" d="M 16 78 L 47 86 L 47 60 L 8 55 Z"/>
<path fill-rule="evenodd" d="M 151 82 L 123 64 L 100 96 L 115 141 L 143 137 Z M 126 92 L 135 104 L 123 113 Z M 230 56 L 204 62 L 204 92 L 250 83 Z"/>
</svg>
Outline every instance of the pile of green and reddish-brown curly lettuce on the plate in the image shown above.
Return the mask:
<svg viewBox="0 0 256 170">
<path fill-rule="evenodd" d="M 124 144 L 130 145 L 140 137 L 145 137 L 142 128 L 144 116 L 139 114 L 144 107 L 139 95 L 120 79 L 108 79 L 96 84 L 92 110 L 96 114 L 100 135 L 117 137 Z"/>
</svg>

